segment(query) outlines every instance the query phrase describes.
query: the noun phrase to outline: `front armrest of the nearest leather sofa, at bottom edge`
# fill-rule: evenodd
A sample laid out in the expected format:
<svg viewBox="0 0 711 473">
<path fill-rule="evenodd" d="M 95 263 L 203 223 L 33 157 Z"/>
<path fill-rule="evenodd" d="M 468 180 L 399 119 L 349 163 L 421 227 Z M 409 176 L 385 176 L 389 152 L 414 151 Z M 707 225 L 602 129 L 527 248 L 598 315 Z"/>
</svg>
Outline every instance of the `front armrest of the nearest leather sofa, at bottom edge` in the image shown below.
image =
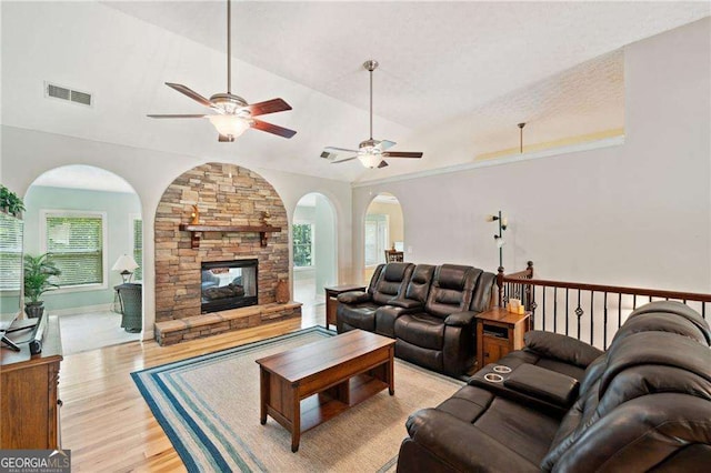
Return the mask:
<svg viewBox="0 0 711 473">
<path fill-rule="evenodd" d="M 538 464 L 447 412 L 422 409 L 405 426 L 417 444 L 457 471 L 540 472 Z"/>
</svg>

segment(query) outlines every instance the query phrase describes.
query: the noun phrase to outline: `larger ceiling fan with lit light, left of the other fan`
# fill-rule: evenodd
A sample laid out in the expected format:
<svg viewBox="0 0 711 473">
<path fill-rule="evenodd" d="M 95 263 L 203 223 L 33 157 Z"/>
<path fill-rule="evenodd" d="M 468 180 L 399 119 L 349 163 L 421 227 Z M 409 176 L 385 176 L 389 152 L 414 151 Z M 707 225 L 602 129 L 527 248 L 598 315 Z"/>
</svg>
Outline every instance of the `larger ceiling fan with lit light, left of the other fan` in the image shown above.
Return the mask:
<svg viewBox="0 0 711 473">
<path fill-rule="evenodd" d="M 232 70 L 232 54 L 230 49 L 230 31 L 231 31 L 231 1 L 227 0 L 227 93 L 216 93 L 206 99 L 194 90 L 180 84 L 166 82 L 166 85 L 178 92 L 190 97 L 198 103 L 212 109 L 213 114 L 149 114 L 148 117 L 154 119 L 192 119 L 192 118 L 207 118 L 214 125 L 220 133 L 220 142 L 232 142 L 237 137 L 242 134 L 248 128 L 266 131 L 268 133 L 278 134 L 283 138 L 291 138 L 297 134 L 296 131 L 288 128 L 279 127 L 272 123 L 268 123 L 262 120 L 258 120 L 254 117 L 266 115 L 268 113 L 277 113 L 286 110 L 291 110 L 291 105 L 282 99 L 267 100 L 259 103 L 247 103 L 247 100 L 239 95 L 234 95 L 230 90 L 231 70 Z"/>
</svg>

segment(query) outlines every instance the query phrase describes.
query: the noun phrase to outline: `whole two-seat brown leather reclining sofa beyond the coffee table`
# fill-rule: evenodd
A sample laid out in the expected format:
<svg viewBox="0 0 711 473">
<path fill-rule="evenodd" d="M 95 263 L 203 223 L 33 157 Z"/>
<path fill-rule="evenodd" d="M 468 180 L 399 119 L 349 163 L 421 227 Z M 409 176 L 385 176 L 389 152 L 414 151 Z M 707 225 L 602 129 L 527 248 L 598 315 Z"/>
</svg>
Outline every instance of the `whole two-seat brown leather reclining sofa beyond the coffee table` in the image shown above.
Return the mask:
<svg viewBox="0 0 711 473">
<path fill-rule="evenodd" d="M 474 318 L 491 306 L 494 284 L 473 266 L 381 265 L 365 292 L 339 295 L 337 330 L 394 338 L 395 356 L 458 376 L 473 364 Z"/>
</svg>

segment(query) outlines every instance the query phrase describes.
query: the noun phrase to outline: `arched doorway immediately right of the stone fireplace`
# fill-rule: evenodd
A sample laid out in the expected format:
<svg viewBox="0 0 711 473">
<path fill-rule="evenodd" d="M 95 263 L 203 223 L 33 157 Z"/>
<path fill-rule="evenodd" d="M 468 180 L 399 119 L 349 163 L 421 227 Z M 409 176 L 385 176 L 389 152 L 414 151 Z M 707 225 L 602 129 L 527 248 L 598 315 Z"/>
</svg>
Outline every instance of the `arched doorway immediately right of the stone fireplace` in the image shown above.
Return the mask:
<svg viewBox="0 0 711 473">
<path fill-rule="evenodd" d="M 323 304 L 323 288 L 337 276 L 336 211 L 326 195 L 303 195 L 291 223 L 294 300 L 309 306 Z"/>
</svg>

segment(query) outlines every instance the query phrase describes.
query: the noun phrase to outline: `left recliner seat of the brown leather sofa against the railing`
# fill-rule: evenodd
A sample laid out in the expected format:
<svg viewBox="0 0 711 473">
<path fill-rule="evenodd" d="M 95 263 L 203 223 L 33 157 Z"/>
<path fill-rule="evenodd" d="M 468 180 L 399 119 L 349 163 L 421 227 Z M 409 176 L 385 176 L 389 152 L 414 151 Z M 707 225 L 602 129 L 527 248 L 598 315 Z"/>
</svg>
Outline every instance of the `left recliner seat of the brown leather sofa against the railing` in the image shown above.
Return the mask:
<svg viewBox="0 0 711 473">
<path fill-rule="evenodd" d="M 375 269 L 365 292 L 339 294 L 336 310 L 338 333 L 353 329 L 375 331 L 375 311 L 404 293 L 414 264 L 388 263 Z"/>
</svg>

